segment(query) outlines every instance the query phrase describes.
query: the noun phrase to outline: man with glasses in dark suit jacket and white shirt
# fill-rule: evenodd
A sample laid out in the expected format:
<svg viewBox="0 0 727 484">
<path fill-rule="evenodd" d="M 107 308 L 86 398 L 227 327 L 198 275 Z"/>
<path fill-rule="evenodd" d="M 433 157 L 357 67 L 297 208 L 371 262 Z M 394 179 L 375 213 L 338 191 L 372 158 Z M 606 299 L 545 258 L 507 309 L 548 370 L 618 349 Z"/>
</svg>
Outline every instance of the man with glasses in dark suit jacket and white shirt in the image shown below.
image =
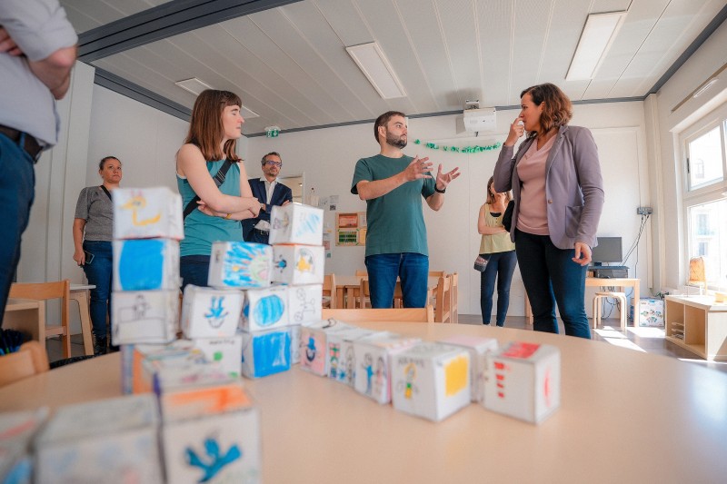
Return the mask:
<svg viewBox="0 0 727 484">
<path fill-rule="evenodd" d="M 253 195 L 260 202 L 260 214 L 254 219 L 243 221 L 245 242 L 267 243 L 270 236 L 270 212 L 274 205 L 284 206 L 293 202 L 293 191 L 277 181 L 283 160 L 280 153 L 267 153 L 261 160 L 263 176 L 248 180 Z"/>
</svg>

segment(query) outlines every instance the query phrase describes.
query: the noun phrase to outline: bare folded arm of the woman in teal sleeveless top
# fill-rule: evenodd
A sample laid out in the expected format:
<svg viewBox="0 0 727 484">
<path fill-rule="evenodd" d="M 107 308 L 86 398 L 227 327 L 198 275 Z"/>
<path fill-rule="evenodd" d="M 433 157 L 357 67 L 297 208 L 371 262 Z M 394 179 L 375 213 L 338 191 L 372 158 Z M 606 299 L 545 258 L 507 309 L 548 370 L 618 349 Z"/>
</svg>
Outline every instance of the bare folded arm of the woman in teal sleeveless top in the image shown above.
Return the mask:
<svg viewBox="0 0 727 484">
<path fill-rule="evenodd" d="M 249 215 L 244 218 L 254 217 L 260 212 L 260 202 L 253 196 L 249 185 L 246 190 L 243 190 L 241 182 L 241 193 L 245 192 L 247 196 L 238 197 L 220 192 L 207 171 L 202 152 L 194 144 L 184 144 L 180 148 L 176 156 L 176 166 L 177 173 L 186 177 L 194 193 L 212 212 L 224 213 L 225 216 L 227 213 L 249 212 Z M 247 179 L 243 175 L 244 170 L 241 170 L 240 176 L 247 184 Z"/>
</svg>

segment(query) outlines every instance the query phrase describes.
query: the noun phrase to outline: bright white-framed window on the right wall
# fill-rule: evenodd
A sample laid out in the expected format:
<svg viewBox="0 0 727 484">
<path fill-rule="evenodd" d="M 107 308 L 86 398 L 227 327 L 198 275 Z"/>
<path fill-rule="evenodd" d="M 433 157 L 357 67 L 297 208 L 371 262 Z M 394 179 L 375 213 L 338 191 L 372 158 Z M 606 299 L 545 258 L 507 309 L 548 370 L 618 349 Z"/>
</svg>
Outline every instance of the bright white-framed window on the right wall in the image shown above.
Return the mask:
<svg viewBox="0 0 727 484">
<path fill-rule="evenodd" d="M 704 257 L 707 285 L 727 288 L 727 104 L 682 133 L 689 258 Z"/>
</svg>

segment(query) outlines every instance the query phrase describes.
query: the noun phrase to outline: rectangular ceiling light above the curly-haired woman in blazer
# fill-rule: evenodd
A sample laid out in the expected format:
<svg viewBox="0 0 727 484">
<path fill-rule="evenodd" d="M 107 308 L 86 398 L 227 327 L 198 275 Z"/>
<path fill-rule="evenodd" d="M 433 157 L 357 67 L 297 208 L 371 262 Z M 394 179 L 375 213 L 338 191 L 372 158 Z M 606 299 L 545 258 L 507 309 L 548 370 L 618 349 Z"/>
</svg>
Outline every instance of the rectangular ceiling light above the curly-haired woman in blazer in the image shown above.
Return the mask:
<svg viewBox="0 0 727 484">
<path fill-rule="evenodd" d="M 565 75 L 566 81 L 593 79 L 624 18 L 626 18 L 625 11 L 588 15 L 568 74 Z"/>
</svg>

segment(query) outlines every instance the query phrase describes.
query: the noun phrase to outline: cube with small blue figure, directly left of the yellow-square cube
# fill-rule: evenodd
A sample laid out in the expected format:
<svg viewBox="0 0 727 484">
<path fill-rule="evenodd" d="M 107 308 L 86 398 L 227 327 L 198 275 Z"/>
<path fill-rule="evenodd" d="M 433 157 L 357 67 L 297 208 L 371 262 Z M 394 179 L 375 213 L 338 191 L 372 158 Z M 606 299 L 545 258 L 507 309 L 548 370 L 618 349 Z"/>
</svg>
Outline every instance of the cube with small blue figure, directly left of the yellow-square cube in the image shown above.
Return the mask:
<svg viewBox="0 0 727 484">
<path fill-rule="evenodd" d="M 392 358 L 419 341 L 421 340 L 418 338 L 404 338 L 397 335 L 354 341 L 356 357 L 354 389 L 379 403 L 389 403 L 392 400 Z"/>
</svg>

